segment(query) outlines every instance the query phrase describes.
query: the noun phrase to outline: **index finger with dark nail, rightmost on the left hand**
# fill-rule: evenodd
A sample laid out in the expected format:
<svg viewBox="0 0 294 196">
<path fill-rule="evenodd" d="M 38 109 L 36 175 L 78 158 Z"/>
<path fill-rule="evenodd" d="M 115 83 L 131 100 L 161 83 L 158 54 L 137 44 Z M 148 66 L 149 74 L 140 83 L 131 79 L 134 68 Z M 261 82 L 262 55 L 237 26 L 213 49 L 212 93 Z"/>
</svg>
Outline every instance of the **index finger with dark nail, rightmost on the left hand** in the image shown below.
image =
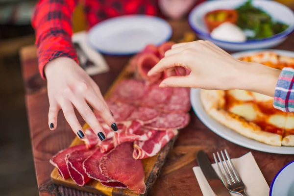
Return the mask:
<svg viewBox="0 0 294 196">
<path fill-rule="evenodd" d="M 111 115 L 111 112 L 107 107 L 107 104 L 103 101 L 104 98 L 102 98 L 102 100 L 98 98 L 98 96 L 96 95 L 94 91 L 88 91 L 85 94 L 85 98 L 87 102 L 90 105 L 92 105 L 93 108 L 99 113 L 99 115 L 102 117 L 104 122 L 107 123 L 109 127 L 111 127 L 114 131 L 117 131 L 118 130 L 117 124 L 113 116 Z"/>
</svg>

